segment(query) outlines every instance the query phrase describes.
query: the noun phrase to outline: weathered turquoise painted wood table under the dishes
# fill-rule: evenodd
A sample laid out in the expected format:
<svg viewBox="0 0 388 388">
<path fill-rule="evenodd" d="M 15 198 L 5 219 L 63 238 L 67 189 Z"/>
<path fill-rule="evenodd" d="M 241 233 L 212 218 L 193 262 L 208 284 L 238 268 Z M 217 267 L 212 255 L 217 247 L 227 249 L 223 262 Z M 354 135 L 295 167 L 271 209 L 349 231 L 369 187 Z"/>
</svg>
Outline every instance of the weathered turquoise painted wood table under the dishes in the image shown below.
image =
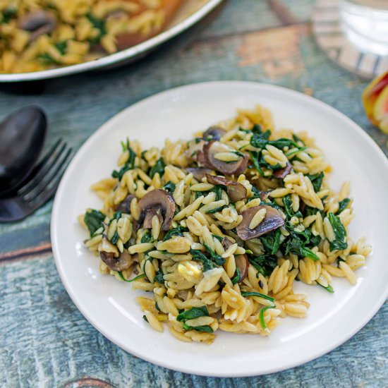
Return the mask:
<svg viewBox="0 0 388 388">
<path fill-rule="evenodd" d="M 207 24 L 124 68 L 52 80 L 39 95 L 0 92 L 0 116 L 40 104 L 75 149 L 121 109 L 162 90 L 207 80 L 253 80 L 313 95 L 344 112 L 388 154 L 360 102 L 366 83 L 317 48 L 312 0 L 229 0 Z M 250 378 L 173 372 L 131 356 L 75 308 L 56 272 L 52 202 L 0 225 L 0 384 L 4 387 L 387 387 L 388 304 L 355 337 L 298 368 Z M 298 349 L 295 349 L 298 351 Z"/>
</svg>

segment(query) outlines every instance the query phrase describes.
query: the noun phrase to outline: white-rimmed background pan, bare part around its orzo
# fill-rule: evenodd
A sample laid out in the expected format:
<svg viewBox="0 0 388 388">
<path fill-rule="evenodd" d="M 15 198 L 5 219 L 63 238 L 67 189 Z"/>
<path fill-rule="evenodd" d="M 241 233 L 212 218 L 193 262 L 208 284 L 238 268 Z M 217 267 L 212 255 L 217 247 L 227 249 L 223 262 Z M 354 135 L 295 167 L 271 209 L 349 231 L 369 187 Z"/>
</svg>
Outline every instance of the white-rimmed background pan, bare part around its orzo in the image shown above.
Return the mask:
<svg viewBox="0 0 388 388">
<path fill-rule="evenodd" d="M 136 59 L 142 58 L 145 54 L 157 48 L 164 42 L 167 42 L 188 30 L 188 28 L 195 25 L 195 23 L 198 23 L 211 11 L 217 8 L 222 1 L 223 0 L 185 0 L 166 30 L 145 42 L 136 44 L 133 47 L 128 47 L 128 49 L 117 51 L 114 54 L 102 56 L 94 61 L 86 61 L 76 65 L 33 71 L 31 73 L 0 74 L 0 83 L 47 80 L 49 78 L 63 77 L 65 75 L 84 73 L 85 71 L 111 68 L 114 66 L 121 66 L 124 63 L 131 63 Z"/>
</svg>

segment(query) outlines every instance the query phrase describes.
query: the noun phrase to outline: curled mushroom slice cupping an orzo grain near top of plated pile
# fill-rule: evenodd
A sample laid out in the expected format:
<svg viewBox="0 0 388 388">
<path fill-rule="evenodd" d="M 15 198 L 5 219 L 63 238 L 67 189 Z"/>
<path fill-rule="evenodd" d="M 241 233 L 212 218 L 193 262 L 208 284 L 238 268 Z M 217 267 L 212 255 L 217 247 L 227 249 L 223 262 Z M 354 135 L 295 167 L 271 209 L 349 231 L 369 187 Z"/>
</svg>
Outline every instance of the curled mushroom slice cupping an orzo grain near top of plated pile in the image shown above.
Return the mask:
<svg viewBox="0 0 388 388">
<path fill-rule="evenodd" d="M 248 156 L 244 154 L 243 157 L 239 157 L 236 162 L 224 162 L 215 157 L 216 154 L 221 152 L 233 152 L 224 145 L 217 141 L 211 141 L 206 143 L 203 147 L 203 154 L 205 156 L 206 166 L 214 169 L 225 175 L 240 174 L 245 171 L 248 164 Z"/>
</svg>

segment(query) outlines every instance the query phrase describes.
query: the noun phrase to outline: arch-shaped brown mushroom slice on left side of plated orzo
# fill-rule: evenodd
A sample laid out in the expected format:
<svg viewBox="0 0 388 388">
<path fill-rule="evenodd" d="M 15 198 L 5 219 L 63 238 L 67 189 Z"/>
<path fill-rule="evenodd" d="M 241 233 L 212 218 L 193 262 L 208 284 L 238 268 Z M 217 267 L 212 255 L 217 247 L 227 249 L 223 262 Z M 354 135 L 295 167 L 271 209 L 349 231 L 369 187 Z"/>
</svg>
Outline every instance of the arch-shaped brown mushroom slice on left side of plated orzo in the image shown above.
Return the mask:
<svg viewBox="0 0 388 388">
<path fill-rule="evenodd" d="M 142 224 L 145 220 L 147 212 L 150 210 L 160 210 L 162 215 L 162 231 L 168 231 L 175 212 L 175 202 L 171 194 L 166 190 L 157 188 L 148 192 L 138 203 L 138 209 L 140 213 L 139 224 Z"/>
</svg>

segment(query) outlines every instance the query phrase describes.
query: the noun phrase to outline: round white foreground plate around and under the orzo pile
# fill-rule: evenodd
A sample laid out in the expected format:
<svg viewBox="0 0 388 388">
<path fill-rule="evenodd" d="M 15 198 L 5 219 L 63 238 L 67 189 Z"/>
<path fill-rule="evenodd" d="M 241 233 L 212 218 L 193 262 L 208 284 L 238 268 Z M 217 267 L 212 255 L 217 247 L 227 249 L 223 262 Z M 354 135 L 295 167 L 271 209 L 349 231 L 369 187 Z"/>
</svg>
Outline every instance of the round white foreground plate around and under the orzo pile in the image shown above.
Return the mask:
<svg viewBox="0 0 388 388">
<path fill-rule="evenodd" d="M 311 303 L 304 320 L 288 317 L 269 338 L 217 332 L 214 344 L 186 344 L 168 330 L 154 332 L 142 319 L 140 291 L 98 272 L 97 258 L 83 248 L 87 237 L 77 216 L 101 201 L 90 184 L 116 168 L 120 140 L 162 146 L 166 137 L 190 138 L 195 131 L 234 116 L 238 108 L 263 104 L 278 127 L 308 130 L 334 166 L 331 182 L 351 181 L 356 219 L 351 236 L 373 245 L 358 283 L 334 279 L 335 293 L 296 284 Z M 244 82 L 202 83 L 147 98 L 117 114 L 90 137 L 68 167 L 56 194 L 51 241 L 56 267 L 78 309 L 115 344 L 166 368 L 209 376 L 249 376 L 301 365 L 331 351 L 356 334 L 388 295 L 388 162 L 360 127 L 326 104 L 281 87 Z"/>
</svg>

